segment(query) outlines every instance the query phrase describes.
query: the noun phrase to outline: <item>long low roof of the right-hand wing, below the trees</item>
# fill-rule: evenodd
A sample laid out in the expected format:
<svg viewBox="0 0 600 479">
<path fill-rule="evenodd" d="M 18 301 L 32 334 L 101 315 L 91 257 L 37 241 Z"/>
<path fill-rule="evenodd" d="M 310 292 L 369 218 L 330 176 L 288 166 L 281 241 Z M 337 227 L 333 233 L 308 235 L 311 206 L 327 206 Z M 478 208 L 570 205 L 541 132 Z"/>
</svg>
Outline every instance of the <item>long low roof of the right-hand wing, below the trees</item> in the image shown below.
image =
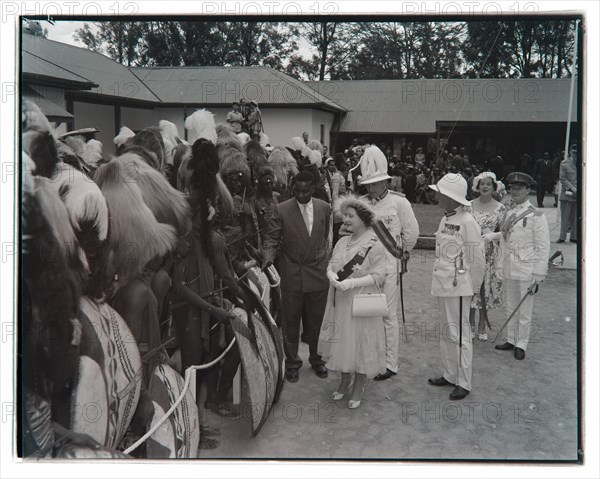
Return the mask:
<svg viewBox="0 0 600 479">
<path fill-rule="evenodd" d="M 434 133 L 438 121 L 565 122 L 570 79 L 340 80 L 306 84 L 347 108 L 340 133 Z M 576 102 L 571 121 L 577 121 Z"/>
</svg>

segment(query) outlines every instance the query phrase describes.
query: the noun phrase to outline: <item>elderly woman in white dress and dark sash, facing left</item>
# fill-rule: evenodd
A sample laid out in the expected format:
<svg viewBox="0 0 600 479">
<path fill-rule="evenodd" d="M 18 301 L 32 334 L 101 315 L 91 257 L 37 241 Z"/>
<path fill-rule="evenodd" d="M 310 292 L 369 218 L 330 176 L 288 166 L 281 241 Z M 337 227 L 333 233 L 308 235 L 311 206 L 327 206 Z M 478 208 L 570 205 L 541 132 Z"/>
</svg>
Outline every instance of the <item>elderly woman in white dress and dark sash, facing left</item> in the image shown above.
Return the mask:
<svg viewBox="0 0 600 479">
<path fill-rule="evenodd" d="M 327 269 L 330 288 L 318 351 L 327 369 L 341 372 L 332 399 L 343 399 L 354 384 L 348 407 L 356 409 L 367 378 L 385 372 L 385 331 L 383 316 L 353 317 L 352 301 L 356 294 L 377 293 L 383 285 L 385 250 L 370 228 L 375 213 L 365 202 L 349 198 L 340 209 L 349 234 L 335 245 Z"/>
</svg>

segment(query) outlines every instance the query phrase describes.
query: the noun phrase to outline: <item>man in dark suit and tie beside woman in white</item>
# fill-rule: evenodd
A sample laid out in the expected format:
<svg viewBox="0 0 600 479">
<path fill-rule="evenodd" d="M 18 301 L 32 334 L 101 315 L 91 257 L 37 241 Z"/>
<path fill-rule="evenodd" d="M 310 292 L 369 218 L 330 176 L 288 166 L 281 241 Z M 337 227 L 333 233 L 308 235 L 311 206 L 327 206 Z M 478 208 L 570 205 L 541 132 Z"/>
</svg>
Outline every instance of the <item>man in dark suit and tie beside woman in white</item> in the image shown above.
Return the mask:
<svg viewBox="0 0 600 479">
<path fill-rule="evenodd" d="M 317 354 L 319 331 L 327 303 L 329 281 L 329 204 L 313 198 L 315 180 L 309 171 L 294 179 L 294 197 L 275 207 L 265 238 L 264 265 L 277 257 L 281 276 L 281 322 L 286 379 L 296 382 L 302 360 L 298 356 L 300 319 L 306 326 L 309 362 L 320 378 L 327 377 Z"/>
</svg>

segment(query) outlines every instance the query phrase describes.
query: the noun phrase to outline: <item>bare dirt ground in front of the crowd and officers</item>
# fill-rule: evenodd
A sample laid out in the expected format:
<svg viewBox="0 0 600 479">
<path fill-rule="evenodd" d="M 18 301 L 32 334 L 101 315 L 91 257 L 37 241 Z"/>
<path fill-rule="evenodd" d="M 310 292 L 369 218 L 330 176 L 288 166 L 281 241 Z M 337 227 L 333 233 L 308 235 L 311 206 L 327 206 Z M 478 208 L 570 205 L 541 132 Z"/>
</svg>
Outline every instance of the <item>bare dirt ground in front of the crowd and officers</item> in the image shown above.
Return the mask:
<svg viewBox="0 0 600 479">
<path fill-rule="evenodd" d="M 346 401 L 331 400 L 338 375 L 317 378 L 302 344 L 300 381 L 286 382 L 261 432 L 250 436 L 248 411 L 235 421 L 211 413 L 208 421 L 220 427 L 221 446 L 200 450 L 198 457 L 577 460 L 576 245 L 556 244 L 557 210 L 543 211 L 551 253 L 561 249 L 565 264 L 551 267 L 535 296 L 534 330 L 524 361 L 496 351 L 491 341 L 475 339 L 473 389 L 465 400 L 450 401 L 451 388 L 427 384 L 427 378 L 441 373 L 443 329 L 437 299 L 430 295 L 434 254 L 416 250 L 405 276 L 406 328 L 400 330 L 397 376 L 368 381 L 362 405 L 350 410 Z M 490 339 L 505 318 L 502 310 L 490 312 Z"/>
</svg>

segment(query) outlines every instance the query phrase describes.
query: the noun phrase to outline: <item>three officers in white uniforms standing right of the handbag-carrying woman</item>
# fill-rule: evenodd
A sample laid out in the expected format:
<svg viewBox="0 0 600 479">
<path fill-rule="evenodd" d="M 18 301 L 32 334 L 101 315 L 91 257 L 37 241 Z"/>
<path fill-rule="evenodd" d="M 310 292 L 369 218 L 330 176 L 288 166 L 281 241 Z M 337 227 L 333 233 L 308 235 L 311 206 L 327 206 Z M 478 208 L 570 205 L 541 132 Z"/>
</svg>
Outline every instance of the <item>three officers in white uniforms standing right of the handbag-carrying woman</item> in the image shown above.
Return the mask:
<svg viewBox="0 0 600 479">
<path fill-rule="evenodd" d="M 391 177 L 387 161 L 376 146 L 369 147 L 361 160 L 360 184 L 367 188 L 365 198 L 392 238 L 401 241 L 405 252 L 411 251 L 419 236 L 419 226 L 412 207 L 404 195 L 388 190 Z M 486 264 L 485 244 L 500 243 L 501 256 L 496 262 L 501 269 L 506 300 L 506 342 L 496 349 L 513 351 L 517 360 L 525 358 L 531 333 L 534 292 L 548 272 L 550 237 L 544 214 L 529 202 L 531 176 L 514 172 L 505 178 L 511 200 L 500 222 L 500 231 L 482 235 L 478 223 L 469 212 L 466 199 L 467 182 L 460 174 L 448 173 L 430 185 L 444 210 L 436 232 L 436 259 L 432 274 L 431 294 L 439 298 L 442 320 L 448 334 L 441 335 L 440 352 L 443 374 L 430 378 L 434 386 L 453 386 L 450 399 L 460 400 L 471 391 L 472 336 L 469 304 L 479 292 Z M 384 246 L 386 246 L 384 244 Z M 387 246 L 386 246 L 387 248 Z M 398 372 L 399 318 L 398 303 L 401 283 L 398 281 L 397 256 L 387 252 L 387 274 L 383 292 L 389 314 L 384 317 L 386 336 L 386 371 L 375 380 L 386 380 Z M 462 317 L 462 325 L 460 325 Z"/>
</svg>

